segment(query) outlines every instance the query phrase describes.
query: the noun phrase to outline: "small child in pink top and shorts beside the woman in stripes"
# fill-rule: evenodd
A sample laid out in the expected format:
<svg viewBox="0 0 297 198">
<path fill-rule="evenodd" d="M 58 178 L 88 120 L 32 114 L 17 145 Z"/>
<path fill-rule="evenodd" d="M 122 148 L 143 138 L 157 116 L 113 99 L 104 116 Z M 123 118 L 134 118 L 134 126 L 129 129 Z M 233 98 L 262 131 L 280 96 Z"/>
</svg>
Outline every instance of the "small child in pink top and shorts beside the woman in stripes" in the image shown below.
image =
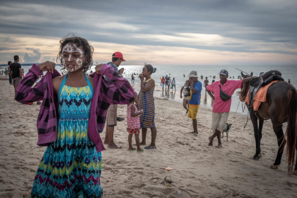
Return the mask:
<svg viewBox="0 0 297 198">
<path fill-rule="evenodd" d="M 140 129 L 140 118 L 139 115 L 142 115 L 144 113 L 143 110 L 137 111 L 137 106 L 135 103 L 137 103 L 137 93 L 135 92 L 135 100 L 132 101 L 127 105 L 127 131 L 129 133 L 128 136 L 128 143 L 129 148 L 127 150 L 136 150 L 132 147 L 132 135 L 135 134 L 135 142 L 137 146 L 137 152 L 143 152 L 144 150 L 140 148 L 139 143 L 139 129 Z"/>
</svg>

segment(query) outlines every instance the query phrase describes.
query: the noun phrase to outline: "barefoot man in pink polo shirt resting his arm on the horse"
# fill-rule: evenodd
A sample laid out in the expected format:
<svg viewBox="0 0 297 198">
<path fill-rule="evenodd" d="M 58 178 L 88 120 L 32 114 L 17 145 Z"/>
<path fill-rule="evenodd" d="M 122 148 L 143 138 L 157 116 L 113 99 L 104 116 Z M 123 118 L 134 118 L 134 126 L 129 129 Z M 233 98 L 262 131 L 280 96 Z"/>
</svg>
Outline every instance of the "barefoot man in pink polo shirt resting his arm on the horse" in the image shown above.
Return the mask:
<svg viewBox="0 0 297 198">
<path fill-rule="evenodd" d="M 228 71 L 225 69 L 222 69 L 219 74 L 220 81 L 213 82 L 212 84 L 206 86 L 207 93 L 214 100 L 211 126 L 211 130 L 213 130 L 214 133 L 212 136 L 208 137 L 208 146 L 212 146 L 213 139 L 217 137 L 218 146 L 216 146 L 216 148 L 222 148 L 221 132 L 223 132 L 223 129 L 226 127 L 232 95 L 235 90 L 241 88 L 243 81 L 247 82 L 250 79 L 228 80 Z"/>
</svg>

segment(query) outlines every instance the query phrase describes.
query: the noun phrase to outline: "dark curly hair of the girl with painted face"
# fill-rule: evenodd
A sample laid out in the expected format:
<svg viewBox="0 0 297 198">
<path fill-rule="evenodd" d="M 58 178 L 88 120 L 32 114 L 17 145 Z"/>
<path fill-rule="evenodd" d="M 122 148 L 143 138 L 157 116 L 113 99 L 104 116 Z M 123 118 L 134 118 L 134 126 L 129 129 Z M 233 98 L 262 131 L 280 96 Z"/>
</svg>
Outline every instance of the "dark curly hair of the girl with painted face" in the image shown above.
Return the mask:
<svg viewBox="0 0 297 198">
<path fill-rule="evenodd" d="M 86 71 L 88 71 L 91 68 L 91 66 L 93 65 L 93 52 L 94 52 L 94 48 L 84 38 L 81 38 L 81 37 L 68 37 L 68 38 L 64 38 L 64 39 L 60 40 L 60 49 L 59 49 L 59 53 L 58 53 L 57 58 L 56 58 L 57 63 L 60 63 L 60 64 L 62 63 L 62 60 L 61 60 L 61 57 L 63 56 L 62 50 L 63 50 L 64 46 L 67 43 L 73 43 L 78 48 L 80 46 L 83 46 L 83 49 L 85 51 L 85 56 L 87 57 L 87 61 L 83 65 L 84 73 L 86 73 Z"/>
</svg>

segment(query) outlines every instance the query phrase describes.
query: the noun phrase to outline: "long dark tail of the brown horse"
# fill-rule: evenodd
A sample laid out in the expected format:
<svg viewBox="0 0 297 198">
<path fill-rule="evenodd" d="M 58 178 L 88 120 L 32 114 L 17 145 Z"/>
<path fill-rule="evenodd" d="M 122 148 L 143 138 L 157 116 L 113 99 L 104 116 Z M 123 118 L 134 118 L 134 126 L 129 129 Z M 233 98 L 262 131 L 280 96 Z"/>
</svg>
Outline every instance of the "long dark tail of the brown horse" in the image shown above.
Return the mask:
<svg viewBox="0 0 297 198">
<path fill-rule="evenodd" d="M 291 175 L 297 143 L 297 91 L 295 89 L 289 91 L 287 109 L 287 157 L 288 173 Z"/>
</svg>

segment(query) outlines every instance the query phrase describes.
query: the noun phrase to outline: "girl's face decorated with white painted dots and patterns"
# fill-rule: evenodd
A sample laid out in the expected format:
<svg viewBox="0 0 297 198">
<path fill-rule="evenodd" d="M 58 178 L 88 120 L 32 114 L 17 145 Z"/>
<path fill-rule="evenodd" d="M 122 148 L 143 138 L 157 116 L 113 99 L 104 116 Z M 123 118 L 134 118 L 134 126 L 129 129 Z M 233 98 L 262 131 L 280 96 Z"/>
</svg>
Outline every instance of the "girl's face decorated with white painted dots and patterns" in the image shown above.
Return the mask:
<svg viewBox="0 0 297 198">
<path fill-rule="evenodd" d="M 71 58 L 72 57 L 72 58 Z M 66 62 L 67 60 L 67 62 Z M 74 60 L 74 61 L 71 61 Z M 83 66 L 83 51 L 75 44 L 69 43 L 62 49 L 61 64 L 68 72 L 79 70 Z"/>
</svg>

